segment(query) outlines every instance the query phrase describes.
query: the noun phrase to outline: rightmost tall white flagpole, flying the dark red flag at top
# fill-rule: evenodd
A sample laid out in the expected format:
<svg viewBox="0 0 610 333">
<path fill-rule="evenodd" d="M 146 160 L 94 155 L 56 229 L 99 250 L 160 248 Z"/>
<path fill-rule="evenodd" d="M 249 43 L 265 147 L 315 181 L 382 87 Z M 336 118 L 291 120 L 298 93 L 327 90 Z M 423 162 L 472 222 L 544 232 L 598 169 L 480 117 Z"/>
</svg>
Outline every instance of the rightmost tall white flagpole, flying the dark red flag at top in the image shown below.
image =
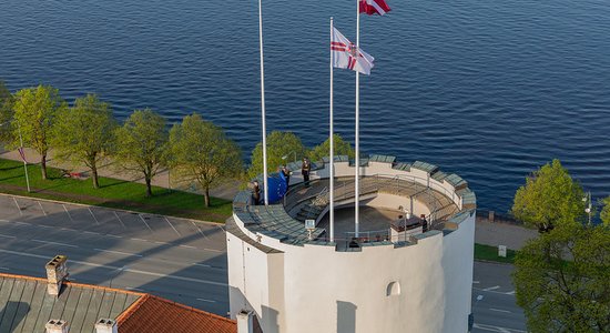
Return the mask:
<svg viewBox="0 0 610 333">
<path fill-rule="evenodd" d="M 360 48 L 360 2 L 356 0 L 356 61 L 359 54 Z M 355 219 L 354 219 L 354 234 L 359 236 L 359 215 L 360 215 L 360 73 L 356 71 L 356 175 L 354 180 L 354 205 L 355 205 Z"/>
</svg>

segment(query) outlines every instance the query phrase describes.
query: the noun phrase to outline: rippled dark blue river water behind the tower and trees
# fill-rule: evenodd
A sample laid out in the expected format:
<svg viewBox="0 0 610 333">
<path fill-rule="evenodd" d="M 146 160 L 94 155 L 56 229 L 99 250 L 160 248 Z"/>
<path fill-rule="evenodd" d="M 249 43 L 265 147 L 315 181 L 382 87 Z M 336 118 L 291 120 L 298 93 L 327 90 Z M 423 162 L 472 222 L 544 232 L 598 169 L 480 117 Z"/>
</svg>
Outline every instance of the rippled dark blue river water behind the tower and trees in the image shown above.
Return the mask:
<svg viewBox="0 0 610 333">
<path fill-rule="evenodd" d="M 264 1 L 270 130 L 327 135 L 328 18 L 355 37 L 355 4 Z M 610 2 L 388 0 L 362 18 L 376 58 L 362 80 L 362 147 L 460 174 L 507 210 L 523 176 L 561 159 L 610 194 Z M 260 139 L 254 0 L 2 0 L 0 78 L 63 97 L 96 92 L 123 119 L 150 107 Z M 354 137 L 354 74 L 335 72 L 337 131 Z"/>
</svg>

